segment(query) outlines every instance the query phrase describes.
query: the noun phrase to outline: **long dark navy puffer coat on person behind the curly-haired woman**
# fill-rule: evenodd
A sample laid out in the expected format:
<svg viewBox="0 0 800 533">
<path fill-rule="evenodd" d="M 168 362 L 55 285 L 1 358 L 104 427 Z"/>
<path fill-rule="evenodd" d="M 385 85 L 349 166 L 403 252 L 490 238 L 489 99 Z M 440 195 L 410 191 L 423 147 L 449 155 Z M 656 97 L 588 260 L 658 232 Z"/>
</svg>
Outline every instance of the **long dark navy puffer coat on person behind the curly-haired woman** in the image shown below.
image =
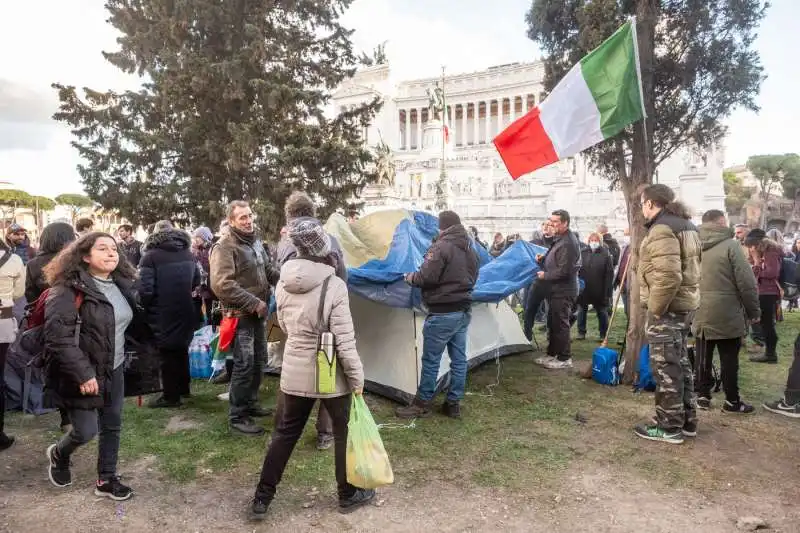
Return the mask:
<svg viewBox="0 0 800 533">
<path fill-rule="evenodd" d="M 154 233 L 145 240 L 143 250 L 139 295 L 156 345 L 168 350 L 187 348 L 196 325 L 192 291 L 200 285 L 189 234 L 181 230 Z"/>
</svg>

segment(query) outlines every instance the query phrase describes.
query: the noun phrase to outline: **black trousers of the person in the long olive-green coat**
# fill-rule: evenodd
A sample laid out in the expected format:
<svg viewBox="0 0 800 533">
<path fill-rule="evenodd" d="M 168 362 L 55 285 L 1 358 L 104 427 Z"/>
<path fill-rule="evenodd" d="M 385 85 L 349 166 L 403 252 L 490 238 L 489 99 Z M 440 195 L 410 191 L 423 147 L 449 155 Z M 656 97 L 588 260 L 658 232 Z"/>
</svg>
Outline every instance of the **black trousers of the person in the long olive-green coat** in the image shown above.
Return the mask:
<svg viewBox="0 0 800 533">
<path fill-rule="evenodd" d="M 731 403 L 739 401 L 739 350 L 742 339 L 697 339 L 697 356 L 695 358 L 695 375 L 697 377 L 697 395 L 711 399 L 714 388 L 714 348 L 719 351 L 719 367 L 722 374 L 722 389 L 725 399 Z"/>
</svg>

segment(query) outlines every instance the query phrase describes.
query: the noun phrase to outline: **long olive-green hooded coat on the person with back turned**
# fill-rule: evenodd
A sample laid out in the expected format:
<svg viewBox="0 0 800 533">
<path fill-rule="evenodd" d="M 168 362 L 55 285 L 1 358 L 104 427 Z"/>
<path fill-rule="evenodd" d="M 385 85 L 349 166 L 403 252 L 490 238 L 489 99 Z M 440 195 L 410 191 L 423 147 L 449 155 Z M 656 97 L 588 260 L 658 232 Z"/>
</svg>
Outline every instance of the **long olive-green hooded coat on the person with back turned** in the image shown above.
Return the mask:
<svg viewBox="0 0 800 533">
<path fill-rule="evenodd" d="M 709 340 L 744 337 L 746 319 L 761 316 L 756 278 L 729 228 L 707 223 L 698 228 L 698 234 L 703 246 L 702 277 L 692 329 Z"/>
</svg>

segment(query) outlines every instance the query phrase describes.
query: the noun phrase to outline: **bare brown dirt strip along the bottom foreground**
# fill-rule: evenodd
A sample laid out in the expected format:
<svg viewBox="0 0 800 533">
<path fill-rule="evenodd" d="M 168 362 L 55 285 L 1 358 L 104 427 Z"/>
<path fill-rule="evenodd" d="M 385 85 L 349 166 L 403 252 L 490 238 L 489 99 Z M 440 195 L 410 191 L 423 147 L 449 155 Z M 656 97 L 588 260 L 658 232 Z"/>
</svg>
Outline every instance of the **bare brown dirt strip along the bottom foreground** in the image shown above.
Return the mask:
<svg viewBox="0 0 800 533">
<path fill-rule="evenodd" d="M 376 504 L 352 515 L 336 512 L 333 494 L 312 487 L 285 488 L 263 524 L 246 521 L 254 473 L 224 475 L 176 486 L 159 479 L 149 457 L 121 465 L 137 490 L 115 504 L 91 491 L 91 454 L 81 454 L 75 485 L 57 490 L 46 479 L 44 461 L 24 446 L 12 451 L 0 480 L 0 531 L 439 531 L 729 533 L 736 520 L 756 515 L 770 531 L 798 531 L 800 509 L 793 495 L 745 495 L 733 489 L 713 496 L 655 486 L 595 464 L 575 464 L 557 491 L 464 488 L 402 477 L 380 491 Z M 43 459 L 43 458 L 41 458 Z M 13 465 L 13 466 L 12 466 Z M 12 475 L 12 471 L 16 475 Z"/>
</svg>

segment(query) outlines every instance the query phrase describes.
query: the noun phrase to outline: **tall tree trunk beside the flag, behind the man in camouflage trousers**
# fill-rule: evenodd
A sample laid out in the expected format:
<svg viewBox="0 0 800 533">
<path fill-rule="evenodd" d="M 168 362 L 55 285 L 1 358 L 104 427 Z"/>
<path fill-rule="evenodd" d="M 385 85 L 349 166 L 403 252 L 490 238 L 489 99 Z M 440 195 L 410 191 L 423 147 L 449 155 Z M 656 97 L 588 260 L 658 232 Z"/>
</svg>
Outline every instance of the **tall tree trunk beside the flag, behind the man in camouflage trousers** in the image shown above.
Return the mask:
<svg viewBox="0 0 800 533">
<path fill-rule="evenodd" d="M 644 108 L 648 118 L 633 126 L 631 147 L 631 172 L 622 180 L 625 205 L 628 209 L 628 224 L 631 234 L 630 267 L 628 269 L 628 332 L 625 343 L 625 371 L 623 383 L 632 384 L 638 369 L 639 352 L 642 349 L 645 328 L 645 313 L 639 299 L 638 263 L 639 246 L 645 235 L 644 215 L 639 187 L 653 182 L 653 48 L 657 19 L 656 0 L 638 0 L 636 4 L 636 30 L 639 44 L 639 66 L 642 76 Z"/>
</svg>

